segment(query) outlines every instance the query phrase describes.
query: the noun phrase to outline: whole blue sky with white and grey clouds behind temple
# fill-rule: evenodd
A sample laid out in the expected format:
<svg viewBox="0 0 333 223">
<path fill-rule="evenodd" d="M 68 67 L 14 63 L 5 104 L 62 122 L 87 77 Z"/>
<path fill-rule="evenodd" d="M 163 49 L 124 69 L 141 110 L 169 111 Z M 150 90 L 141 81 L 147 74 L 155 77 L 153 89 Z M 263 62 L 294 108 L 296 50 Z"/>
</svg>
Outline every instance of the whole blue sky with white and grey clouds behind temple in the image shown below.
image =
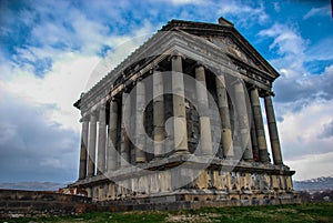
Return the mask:
<svg viewBox="0 0 333 223">
<path fill-rule="evenodd" d="M 103 75 L 103 57 L 114 67 L 171 19 L 216 23 L 219 17 L 281 73 L 274 103 L 294 179 L 332 175 L 329 0 L 1 0 L 0 183 L 75 181 L 80 114 L 72 104 Z"/>
</svg>

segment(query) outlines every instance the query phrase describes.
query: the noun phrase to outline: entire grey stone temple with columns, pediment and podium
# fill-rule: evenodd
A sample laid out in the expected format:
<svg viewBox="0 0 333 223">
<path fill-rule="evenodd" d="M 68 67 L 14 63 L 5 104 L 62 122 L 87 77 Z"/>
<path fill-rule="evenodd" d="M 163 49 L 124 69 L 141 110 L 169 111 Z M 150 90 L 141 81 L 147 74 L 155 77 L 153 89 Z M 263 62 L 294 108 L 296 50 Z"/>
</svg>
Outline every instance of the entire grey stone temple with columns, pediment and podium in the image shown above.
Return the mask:
<svg viewBox="0 0 333 223">
<path fill-rule="evenodd" d="M 276 78 L 228 20 L 171 20 L 74 103 L 82 140 L 69 186 L 110 205 L 295 202 Z"/>
</svg>

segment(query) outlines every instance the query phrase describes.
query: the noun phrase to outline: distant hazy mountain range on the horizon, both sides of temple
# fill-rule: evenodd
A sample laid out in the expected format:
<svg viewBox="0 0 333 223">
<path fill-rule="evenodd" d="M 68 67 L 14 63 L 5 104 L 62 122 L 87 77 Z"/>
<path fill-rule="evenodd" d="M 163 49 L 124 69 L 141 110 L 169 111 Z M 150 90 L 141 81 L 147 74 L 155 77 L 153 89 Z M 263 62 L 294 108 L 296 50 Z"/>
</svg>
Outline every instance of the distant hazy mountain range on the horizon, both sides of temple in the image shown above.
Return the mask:
<svg viewBox="0 0 333 223">
<path fill-rule="evenodd" d="M 54 182 L 18 182 L 18 183 L 0 183 L 0 189 L 16 189 L 28 191 L 58 191 L 65 187 L 68 183 Z M 325 191 L 333 190 L 333 178 L 317 178 L 305 181 L 294 181 L 294 190 L 296 191 Z"/>
</svg>

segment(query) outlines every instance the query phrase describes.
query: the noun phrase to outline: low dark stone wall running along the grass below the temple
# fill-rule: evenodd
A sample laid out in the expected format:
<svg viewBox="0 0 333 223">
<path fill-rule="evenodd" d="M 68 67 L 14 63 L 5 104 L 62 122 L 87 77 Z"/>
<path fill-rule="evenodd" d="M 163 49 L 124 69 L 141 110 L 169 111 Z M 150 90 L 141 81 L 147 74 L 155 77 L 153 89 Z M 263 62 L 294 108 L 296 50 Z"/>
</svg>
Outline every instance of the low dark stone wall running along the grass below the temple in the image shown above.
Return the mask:
<svg viewBox="0 0 333 223">
<path fill-rule="evenodd" d="M 233 197 L 232 197 L 233 196 Z M 134 210 L 184 210 L 202 206 L 268 205 L 300 203 L 295 194 L 276 194 L 274 197 L 261 195 L 219 194 L 215 190 L 201 193 L 186 191 L 172 195 L 141 196 L 135 200 L 98 201 L 78 195 L 54 192 L 17 191 L 0 189 L 0 219 L 32 215 L 68 215 L 98 212 L 122 212 Z"/>
</svg>

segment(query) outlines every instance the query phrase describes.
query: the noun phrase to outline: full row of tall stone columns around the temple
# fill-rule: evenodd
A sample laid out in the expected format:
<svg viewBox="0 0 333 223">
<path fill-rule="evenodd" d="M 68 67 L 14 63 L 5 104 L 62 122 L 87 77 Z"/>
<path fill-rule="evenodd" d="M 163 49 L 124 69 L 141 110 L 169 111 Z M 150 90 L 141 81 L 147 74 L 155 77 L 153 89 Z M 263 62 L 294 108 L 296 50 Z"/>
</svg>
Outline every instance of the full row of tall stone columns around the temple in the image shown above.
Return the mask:
<svg viewBox="0 0 333 223">
<path fill-rule="evenodd" d="M 183 72 L 182 58 L 173 55 L 171 59 L 171 68 L 173 72 Z M 165 132 L 164 121 L 164 98 L 163 98 L 163 77 L 160 71 L 154 70 L 152 75 L 153 82 L 153 135 L 154 140 L 153 152 L 154 159 L 162 159 L 165 148 L 161 143 L 168 138 Z M 199 116 L 200 125 L 200 155 L 213 154 L 213 142 L 211 132 L 210 108 L 208 92 L 202 87 L 206 87 L 205 68 L 196 65 L 196 99 L 201 108 Z M 186 134 L 186 107 L 185 107 L 185 88 L 183 75 L 176 74 L 172 77 L 172 108 L 173 108 L 173 139 L 174 153 L 189 153 L 188 134 Z M 82 133 L 81 133 L 81 151 L 80 151 L 80 168 L 79 180 L 103 174 L 104 172 L 115 171 L 129 165 L 129 163 L 147 162 L 145 153 L 142 149 L 145 148 L 145 131 L 143 124 L 139 124 L 143 120 L 142 113 L 145 105 L 145 83 L 138 80 L 135 103 L 128 103 L 124 109 L 124 103 L 129 94 L 125 91 L 120 92 L 121 100 L 111 99 L 108 103 L 101 103 L 98 109 L 83 114 Z M 260 105 L 259 89 L 256 87 L 246 90 L 241 81 L 233 83 L 236 111 L 236 124 L 240 134 L 238 135 L 240 144 L 235 144 L 232 133 L 232 124 L 230 121 L 229 97 L 226 93 L 225 79 L 223 74 L 215 78 L 216 103 L 221 118 L 221 148 L 224 159 L 233 159 L 238 154 L 238 148 L 243 146 L 242 156 L 244 161 L 269 162 L 269 152 L 266 138 L 264 132 L 263 115 Z M 246 94 L 250 95 L 251 108 L 246 107 Z M 133 108 L 134 119 L 131 120 L 134 131 L 134 148 L 131 149 L 129 132 L 125 129 L 125 121 L 131 119 L 131 108 Z M 272 103 L 271 94 L 264 95 L 264 105 L 266 121 L 269 126 L 269 135 L 271 141 L 271 150 L 274 164 L 282 164 L 281 146 L 276 128 L 276 120 Z M 109 107 L 109 109 L 107 109 Z M 253 122 L 251 124 L 248 109 L 251 109 Z M 107 115 L 107 111 L 109 114 Z M 107 123 L 109 116 L 109 123 Z M 143 116 L 144 118 L 144 116 Z M 120 120 L 119 120 L 120 119 Z M 99 123 L 99 124 L 98 124 Z M 119 124 L 120 123 L 120 124 Z M 97 131 L 97 125 L 99 125 Z M 108 128 L 108 129 L 107 129 Z M 118 142 L 120 140 L 120 142 Z M 256 154 L 258 153 L 258 154 Z M 253 155 L 255 154 L 255 155 Z M 98 158 L 95 158 L 95 155 Z M 97 161 L 97 166 L 95 166 Z"/>
</svg>

